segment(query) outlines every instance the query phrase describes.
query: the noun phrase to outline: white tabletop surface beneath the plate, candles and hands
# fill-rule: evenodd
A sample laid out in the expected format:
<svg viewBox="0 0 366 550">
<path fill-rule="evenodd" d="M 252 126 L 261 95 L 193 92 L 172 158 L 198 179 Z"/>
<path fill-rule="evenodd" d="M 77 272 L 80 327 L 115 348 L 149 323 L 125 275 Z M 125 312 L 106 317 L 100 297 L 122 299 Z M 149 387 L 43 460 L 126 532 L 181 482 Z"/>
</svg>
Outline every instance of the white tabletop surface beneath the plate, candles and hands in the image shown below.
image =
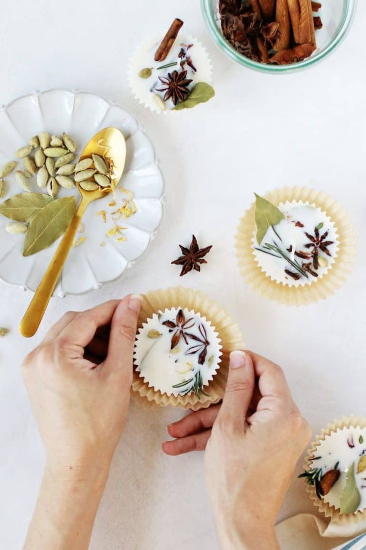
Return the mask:
<svg viewBox="0 0 366 550">
<path fill-rule="evenodd" d="M 37 337 L 17 326 L 31 295 L 0 284 L 0 547 L 21 547 L 41 477 L 43 450 L 20 378 L 20 363 L 46 328 L 69 309 L 85 309 L 128 292 L 184 282 L 206 290 L 239 322 L 248 346 L 285 369 L 314 433 L 342 414 L 366 415 L 365 239 L 366 113 L 361 1 L 350 35 L 312 69 L 291 75 L 254 73 L 210 43 L 197 0 L 87 4 L 65 0 L 2 3 L 0 102 L 35 89 L 69 87 L 117 100 L 135 113 L 156 145 L 168 198 L 158 238 L 136 270 L 82 298 L 53 299 Z M 207 46 L 217 96 L 179 117 L 154 116 L 131 97 L 130 52 L 174 17 Z M 94 33 L 94 34 L 93 34 Z M 357 265 L 334 296 L 288 309 L 260 298 L 240 277 L 234 234 L 253 191 L 314 185 L 346 208 L 358 230 Z M 178 244 L 213 244 L 201 273 L 179 278 Z M 92 538 L 92 550 L 217 550 L 203 482 L 203 456 L 160 451 L 177 410 L 132 406 L 115 455 Z M 228 450 L 229 452 L 229 450 Z M 298 466 L 297 473 L 301 470 Z M 314 511 L 295 476 L 281 518 Z M 315 550 L 315 549 L 314 549 Z"/>
</svg>

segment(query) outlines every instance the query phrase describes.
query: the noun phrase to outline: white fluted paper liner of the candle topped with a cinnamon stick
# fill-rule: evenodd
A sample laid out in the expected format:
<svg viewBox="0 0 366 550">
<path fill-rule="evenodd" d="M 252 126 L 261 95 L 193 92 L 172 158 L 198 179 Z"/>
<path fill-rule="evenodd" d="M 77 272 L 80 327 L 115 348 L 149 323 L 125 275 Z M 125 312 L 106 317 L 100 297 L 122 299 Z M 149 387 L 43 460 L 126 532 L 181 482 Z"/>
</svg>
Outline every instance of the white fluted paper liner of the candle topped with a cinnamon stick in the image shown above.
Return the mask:
<svg viewBox="0 0 366 550">
<path fill-rule="evenodd" d="M 137 90 L 137 86 L 136 86 L 136 81 L 138 81 L 137 77 L 136 77 L 136 74 L 138 75 L 138 73 L 140 72 L 140 70 L 143 67 L 140 67 L 140 65 L 137 66 L 137 63 L 138 63 L 138 58 L 139 58 L 140 52 L 146 51 L 149 47 L 151 47 L 152 43 L 154 43 L 154 42 L 158 43 L 160 40 L 162 40 L 162 38 L 165 35 L 166 31 L 167 30 L 165 29 L 165 31 L 162 31 L 159 34 L 156 34 L 153 37 L 148 38 L 147 40 L 145 40 L 144 42 L 142 42 L 140 45 L 137 46 L 137 48 L 134 50 L 134 52 L 132 53 L 132 55 L 130 57 L 130 61 L 129 61 L 129 65 L 128 65 L 128 73 L 127 73 L 127 79 L 128 79 L 129 87 L 130 87 L 132 95 L 135 97 L 135 99 L 141 105 L 143 105 L 147 109 L 150 109 L 151 112 L 158 113 L 158 114 L 159 113 L 167 114 L 167 113 L 172 113 L 172 112 L 177 113 L 179 111 L 175 111 L 175 109 L 164 109 L 164 110 L 159 111 L 157 108 L 153 108 L 151 105 L 148 105 L 148 103 L 146 103 L 143 100 L 143 98 L 140 97 L 140 94 L 139 94 L 139 92 Z M 186 41 L 186 42 L 189 42 L 190 44 L 193 44 L 193 45 L 197 46 L 197 48 L 199 50 L 200 62 L 204 63 L 204 65 L 205 65 L 205 67 L 204 67 L 204 77 L 201 79 L 201 81 L 204 81 L 207 84 L 212 84 L 212 63 L 211 63 L 211 60 L 210 60 L 210 57 L 209 57 L 209 54 L 208 54 L 206 48 L 202 45 L 201 42 L 199 42 L 197 40 L 197 38 L 194 38 L 192 35 L 187 35 L 187 34 L 185 34 L 185 32 L 180 32 L 178 37 L 176 38 L 176 40 L 178 40 L 178 41 L 181 41 L 181 39 Z M 173 70 L 173 69 L 174 69 L 174 67 L 172 67 L 171 70 Z M 201 72 L 201 70 L 200 70 L 200 72 Z"/>
</svg>

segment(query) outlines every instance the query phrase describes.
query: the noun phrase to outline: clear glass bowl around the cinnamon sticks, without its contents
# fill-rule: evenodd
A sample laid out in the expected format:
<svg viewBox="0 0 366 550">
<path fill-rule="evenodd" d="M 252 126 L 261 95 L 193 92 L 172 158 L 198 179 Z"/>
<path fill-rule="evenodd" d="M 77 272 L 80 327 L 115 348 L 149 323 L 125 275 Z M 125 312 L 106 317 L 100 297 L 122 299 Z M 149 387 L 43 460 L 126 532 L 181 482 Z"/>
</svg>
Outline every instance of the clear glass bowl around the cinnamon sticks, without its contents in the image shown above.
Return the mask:
<svg viewBox="0 0 366 550">
<path fill-rule="evenodd" d="M 319 0 L 321 2 L 321 0 Z M 317 38 L 317 50 L 303 61 L 289 65 L 272 65 L 270 63 L 259 63 L 237 52 L 228 41 L 225 40 L 220 25 L 220 14 L 218 0 L 201 0 L 203 18 L 206 21 L 213 40 L 218 44 L 221 51 L 228 57 L 234 59 L 244 67 L 259 70 L 264 73 L 289 73 L 294 70 L 304 69 L 318 63 L 331 53 L 346 36 L 350 29 L 357 0 L 324 0 L 320 12 L 323 28 L 315 31 Z"/>
</svg>

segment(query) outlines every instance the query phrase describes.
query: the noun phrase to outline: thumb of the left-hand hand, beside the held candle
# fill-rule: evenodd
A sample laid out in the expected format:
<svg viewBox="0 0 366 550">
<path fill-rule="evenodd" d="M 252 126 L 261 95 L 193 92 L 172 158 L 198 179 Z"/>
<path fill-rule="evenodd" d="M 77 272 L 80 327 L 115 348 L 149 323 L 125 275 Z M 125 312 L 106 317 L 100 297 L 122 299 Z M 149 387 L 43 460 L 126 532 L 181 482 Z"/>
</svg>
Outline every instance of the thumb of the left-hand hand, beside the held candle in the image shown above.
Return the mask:
<svg viewBox="0 0 366 550">
<path fill-rule="evenodd" d="M 110 370 L 130 368 L 132 372 L 132 354 L 136 338 L 138 313 L 141 297 L 130 294 L 120 301 L 112 317 L 110 326 L 108 354 L 105 364 Z"/>
</svg>

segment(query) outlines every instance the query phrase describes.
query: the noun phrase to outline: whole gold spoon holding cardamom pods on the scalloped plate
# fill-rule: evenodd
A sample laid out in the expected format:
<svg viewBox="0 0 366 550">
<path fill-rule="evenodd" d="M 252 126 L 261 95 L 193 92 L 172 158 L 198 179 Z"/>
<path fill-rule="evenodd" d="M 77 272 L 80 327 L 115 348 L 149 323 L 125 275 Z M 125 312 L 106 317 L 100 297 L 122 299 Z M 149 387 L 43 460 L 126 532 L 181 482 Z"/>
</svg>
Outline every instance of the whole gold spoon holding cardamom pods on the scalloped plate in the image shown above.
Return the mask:
<svg viewBox="0 0 366 550">
<path fill-rule="evenodd" d="M 117 185 L 126 161 L 126 143 L 123 134 L 117 128 L 104 128 L 96 134 L 82 151 L 80 160 L 91 157 L 92 153 L 103 156 L 113 161 L 114 184 Z M 75 182 L 76 183 L 76 182 Z M 112 189 L 104 188 L 102 190 L 85 191 L 76 183 L 77 189 L 81 194 L 81 201 L 77 208 L 74 218 L 71 220 L 68 229 L 58 245 L 56 252 L 49 264 L 46 273 L 38 286 L 35 295 L 21 320 L 19 331 L 25 338 L 30 338 L 36 332 L 45 314 L 49 299 L 56 287 L 59 276 L 62 272 L 66 257 L 73 246 L 77 228 L 80 226 L 81 218 L 91 202 L 101 199 L 110 193 Z"/>
</svg>

